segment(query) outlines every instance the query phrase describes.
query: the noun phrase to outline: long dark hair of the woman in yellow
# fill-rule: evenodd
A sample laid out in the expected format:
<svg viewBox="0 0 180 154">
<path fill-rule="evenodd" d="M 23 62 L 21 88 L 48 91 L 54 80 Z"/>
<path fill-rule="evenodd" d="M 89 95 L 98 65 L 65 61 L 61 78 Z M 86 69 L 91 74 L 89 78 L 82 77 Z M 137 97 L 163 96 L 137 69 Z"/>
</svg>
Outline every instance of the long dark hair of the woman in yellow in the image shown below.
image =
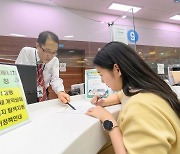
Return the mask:
<svg viewBox="0 0 180 154">
<path fill-rule="evenodd" d="M 117 64 L 121 71 L 125 95 L 152 92 L 165 99 L 180 117 L 180 102 L 177 95 L 130 46 L 121 42 L 110 42 L 97 53 L 93 63 L 108 70 L 112 70 L 114 64 Z M 132 92 L 130 89 L 140 91 Z"/>
</svg>

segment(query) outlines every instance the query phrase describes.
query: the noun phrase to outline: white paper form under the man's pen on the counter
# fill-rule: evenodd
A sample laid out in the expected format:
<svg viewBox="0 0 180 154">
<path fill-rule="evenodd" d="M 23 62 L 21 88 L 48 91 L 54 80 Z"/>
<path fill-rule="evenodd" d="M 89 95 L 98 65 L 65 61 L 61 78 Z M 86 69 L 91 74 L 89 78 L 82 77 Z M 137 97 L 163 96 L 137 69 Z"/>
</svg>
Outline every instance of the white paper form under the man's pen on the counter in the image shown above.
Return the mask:
<svg viewBox="0 0 180 154">
<path fill-rule="evenodd" d="M 88 109 L 95 107 L 95 105 L 91 104 L 89 101 L 76 101 L 70 102 L 70 104 L 75 107 L 76 110 L 73 110 L 70 106 L 66 105 L 58 113 L 71 113 L 71 114 L 84 114 L 88 111 Z"/>
</svg>

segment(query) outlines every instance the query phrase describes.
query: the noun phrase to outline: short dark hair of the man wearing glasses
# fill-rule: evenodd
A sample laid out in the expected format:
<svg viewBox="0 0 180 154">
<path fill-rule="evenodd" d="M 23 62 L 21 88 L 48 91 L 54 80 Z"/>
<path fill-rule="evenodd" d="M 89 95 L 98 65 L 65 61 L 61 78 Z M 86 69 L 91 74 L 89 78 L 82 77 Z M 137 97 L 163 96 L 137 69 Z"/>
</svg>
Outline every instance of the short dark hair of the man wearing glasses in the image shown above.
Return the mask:
<svg viewBox="0 0 180 154">
<path fill-rule="evenodd" d="M 56 42 L 57 44 L 59 44 L 59 38 L 56 34 L 54 34 L 53 32 L 50 32 L 50 31 L 44 31 L 44 32 L 41 32 L 38 36 L 38 39 L 37 39 L 37 42 L 40 44 L 40 45 L 45 45 L 47 39 L 51 39 L 53 40 L 54 42 Z"/>
</svg>

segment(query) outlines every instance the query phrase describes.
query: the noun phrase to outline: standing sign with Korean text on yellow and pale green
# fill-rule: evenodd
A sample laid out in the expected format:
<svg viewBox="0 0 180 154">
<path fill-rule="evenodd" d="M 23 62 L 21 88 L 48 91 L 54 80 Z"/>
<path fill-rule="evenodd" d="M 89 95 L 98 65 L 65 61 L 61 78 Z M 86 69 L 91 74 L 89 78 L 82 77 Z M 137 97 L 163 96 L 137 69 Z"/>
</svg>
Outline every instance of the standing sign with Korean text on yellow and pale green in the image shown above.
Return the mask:
<svg viewBox="0 0 180 154">
<path fill-rule="evenodd" d="M 29 121 L 27 101 L 16 66 L 0 64 L 0 135 Z"/>
</svg>

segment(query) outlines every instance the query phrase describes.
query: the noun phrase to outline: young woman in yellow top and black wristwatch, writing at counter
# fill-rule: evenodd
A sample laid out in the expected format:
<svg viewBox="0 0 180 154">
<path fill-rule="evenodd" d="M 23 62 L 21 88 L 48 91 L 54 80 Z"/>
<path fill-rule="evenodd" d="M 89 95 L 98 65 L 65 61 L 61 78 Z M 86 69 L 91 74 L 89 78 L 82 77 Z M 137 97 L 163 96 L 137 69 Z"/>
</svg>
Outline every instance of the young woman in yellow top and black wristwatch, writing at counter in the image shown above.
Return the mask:
<svg viewBox="0 0 180 154">
<path fill-rule="evenodd" d="M 100 106 L 87 112 L 103 122 L 115 153 L 179 154 L 180 102 L 171 88 L 124 43 L 108 43 L 93 62 L 102 81 L 122 91 L 105 99 L 95 97 L 92 102 Z M 116 121 L 101 106 L 119 102 Z"/>
</svg>

